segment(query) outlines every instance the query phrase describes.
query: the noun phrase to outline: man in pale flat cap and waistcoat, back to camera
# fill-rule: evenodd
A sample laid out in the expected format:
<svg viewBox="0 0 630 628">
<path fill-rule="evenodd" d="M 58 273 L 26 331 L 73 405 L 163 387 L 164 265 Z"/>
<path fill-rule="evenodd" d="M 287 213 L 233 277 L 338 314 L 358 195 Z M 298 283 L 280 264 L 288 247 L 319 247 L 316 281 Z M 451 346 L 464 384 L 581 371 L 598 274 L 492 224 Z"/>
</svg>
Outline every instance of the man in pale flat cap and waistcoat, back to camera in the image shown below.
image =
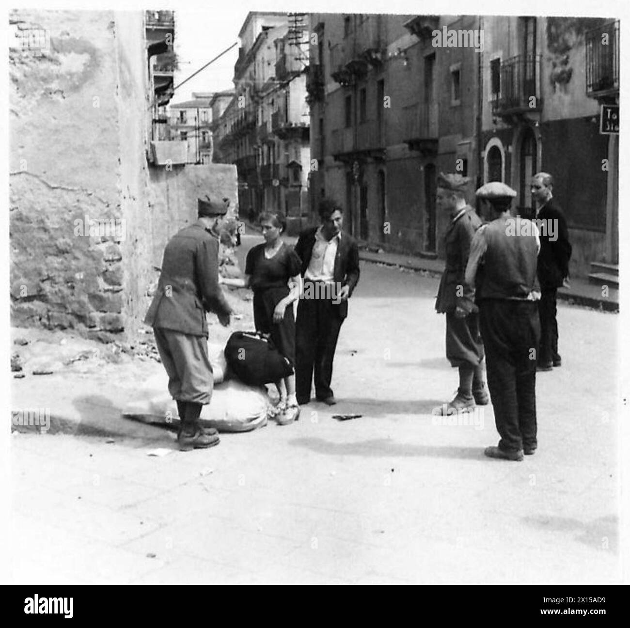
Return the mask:
<svg viewBox="0 0 630 628">
<path fill-rule="evenodd" d="M 534 222 L 512 218 L 510 205 L 516 192 L 505 183 L 486 183 L 477 196 L 490 204 L 493 220 L 473 237 L 464 280 L 479 307 L 488 388 L 501 437 L 498 447 L 486 447 L 484 454 L 522 460 L 523 454 L 534 454 L 537 447 L 540 239 Z M 464 307 L 472 309 L 472 300 Z"/>
</svg>

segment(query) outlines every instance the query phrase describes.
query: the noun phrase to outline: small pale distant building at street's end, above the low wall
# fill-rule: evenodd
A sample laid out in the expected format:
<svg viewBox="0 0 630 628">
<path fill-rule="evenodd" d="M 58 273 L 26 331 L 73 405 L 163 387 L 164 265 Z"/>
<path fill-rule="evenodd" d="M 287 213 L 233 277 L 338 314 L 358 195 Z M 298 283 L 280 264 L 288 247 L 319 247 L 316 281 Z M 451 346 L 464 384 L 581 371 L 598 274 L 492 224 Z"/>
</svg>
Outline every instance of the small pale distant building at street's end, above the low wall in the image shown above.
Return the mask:
<svg viewBox="0 0 630 628">
<path fill-rule="evenodd" d="M 193 94 L 198 96 L 198 94 Z M 194 98 L 169 107 L 171 140 L 186 142 L 189 164 L 212 162 L 212 108 L 210 98 Z"/>
</svg>

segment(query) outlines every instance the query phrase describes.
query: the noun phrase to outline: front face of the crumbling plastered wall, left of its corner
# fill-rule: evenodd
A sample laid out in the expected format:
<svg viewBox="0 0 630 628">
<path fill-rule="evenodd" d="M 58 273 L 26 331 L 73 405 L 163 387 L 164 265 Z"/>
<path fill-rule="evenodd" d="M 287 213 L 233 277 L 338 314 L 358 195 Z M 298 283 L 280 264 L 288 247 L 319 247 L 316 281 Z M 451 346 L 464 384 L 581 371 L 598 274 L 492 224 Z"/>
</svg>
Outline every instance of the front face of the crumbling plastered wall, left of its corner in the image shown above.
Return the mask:
<svg viewBox="0 0 630 628">
<path fill-rule="evenodd" d="M 123 217 L 114 15 L 20 9 L 9 22 L 22 40 L 44 35 L 9 52 L 13 324 L 122 331 L 120 237 L 89 234 Z"/>
</svg>

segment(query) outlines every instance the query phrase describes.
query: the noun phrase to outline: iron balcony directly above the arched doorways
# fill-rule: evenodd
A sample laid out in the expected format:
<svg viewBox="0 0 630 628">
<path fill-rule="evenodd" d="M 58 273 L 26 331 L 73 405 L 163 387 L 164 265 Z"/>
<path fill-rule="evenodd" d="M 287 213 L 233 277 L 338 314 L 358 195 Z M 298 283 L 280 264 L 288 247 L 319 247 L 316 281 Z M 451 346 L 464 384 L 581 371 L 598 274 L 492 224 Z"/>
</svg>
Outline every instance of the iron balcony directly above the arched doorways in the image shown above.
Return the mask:
<svg viewBox="0 0 630 628">
<path fill-rule="evenodd" d="M 517 55 L 501 61 L 501 93 L 494 94 L 495 113 L 541 110 L 541 66 L 541 55 Z"/>
</svg>

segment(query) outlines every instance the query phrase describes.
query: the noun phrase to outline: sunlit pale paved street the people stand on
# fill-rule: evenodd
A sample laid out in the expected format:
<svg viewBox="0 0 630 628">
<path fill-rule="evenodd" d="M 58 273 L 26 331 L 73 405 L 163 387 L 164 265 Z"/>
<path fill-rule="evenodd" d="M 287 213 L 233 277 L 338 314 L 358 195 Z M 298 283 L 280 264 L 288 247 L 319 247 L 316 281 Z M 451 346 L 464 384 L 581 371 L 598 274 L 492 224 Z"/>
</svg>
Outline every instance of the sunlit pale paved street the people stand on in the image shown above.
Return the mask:
<svg viewBox="0 0 630 628">
<path fill-rule="evenodd" d="M 457 387 L 436 290 L 436 278 L 362 263 L 339 402 L 311 402 L 294 425 L 186 454 L 147 426 L 113 443 L 14 433 L 15 581 L 620 581 L 618 317 L 559 304 L 563 367 L 537 380 L 539 449 L 490 460 L 491 406 L 478 425 L 434 425 Z M 114 408 L 141 385 L 98 382 Z M 79 396 L 97 384 L 65 385 Z M 344 413 L 362 416 L 331 418 Z M 173 450 L 147 456 L 155 447 Z"/>
</svg>

